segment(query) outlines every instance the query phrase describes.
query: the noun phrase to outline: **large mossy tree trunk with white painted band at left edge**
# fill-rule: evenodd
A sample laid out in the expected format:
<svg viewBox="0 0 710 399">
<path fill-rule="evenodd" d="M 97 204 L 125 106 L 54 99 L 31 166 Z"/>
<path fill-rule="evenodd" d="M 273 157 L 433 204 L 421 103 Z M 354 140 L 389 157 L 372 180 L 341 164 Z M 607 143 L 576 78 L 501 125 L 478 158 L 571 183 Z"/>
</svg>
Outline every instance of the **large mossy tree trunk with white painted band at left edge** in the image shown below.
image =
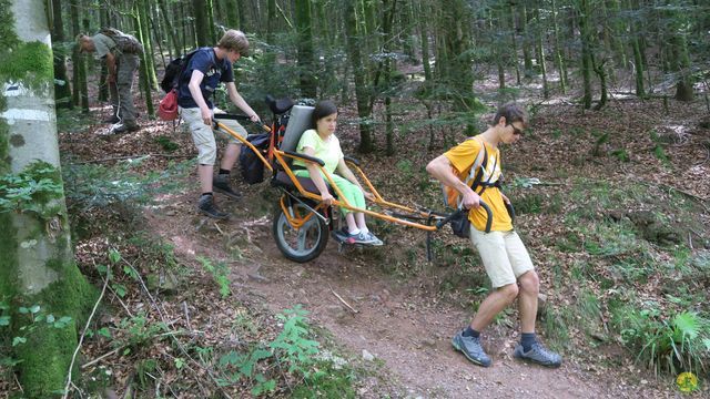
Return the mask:
<svg viewBox="0 0 710 399">
<path fill-rule="evenodd" d="M 91 305 L 93 289 L 73 258 L 59 164 L 53 65 L 42 0 L 0 0 L 0 57 L 16 62 L 0 65 L 0 175 L 27 184 L 52 187 L 32 196 L 28 205 L 0 208 L 0 298 L 10 305 L 10 336 L 27 341 L 13 348 L 26 398 L 50 398 L 63 390 L 79 323 Z M 10 139 L 11 137 L 11 139 Z M 3 178 L 4 180 L 4 178 Z M 44 320 L 31 332 L 20 307 L 38 305 L 45 315 L 69 316 L 64 328 Z M 4 331 L 0 331 L 4 332 Z"/>
</svg>

